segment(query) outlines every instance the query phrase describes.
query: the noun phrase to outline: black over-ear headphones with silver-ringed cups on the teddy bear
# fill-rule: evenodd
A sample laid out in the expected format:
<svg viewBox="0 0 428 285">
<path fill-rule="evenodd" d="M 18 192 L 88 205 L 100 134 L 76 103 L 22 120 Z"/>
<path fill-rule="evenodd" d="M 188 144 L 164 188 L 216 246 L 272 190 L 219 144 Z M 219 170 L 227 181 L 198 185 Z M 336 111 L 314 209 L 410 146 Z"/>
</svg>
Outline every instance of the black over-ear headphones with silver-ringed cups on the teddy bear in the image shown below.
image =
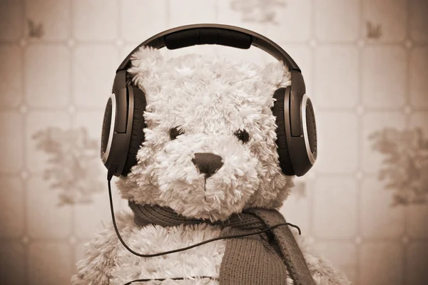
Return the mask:
<svg viewBox="0 0 428 285">
<path fill-rule="evenodd" d="M 146 96 L 143 90 L 127 82 L 126 76 L 133 53 L 141 46 L 176 49 L 200 44 L 243 49 L 256 46 L 287 65 L 291 72 L 291 86 L 279 88 L 273 95 L 276 99 L 272 113 L 277 125 L 277 152 L 285 175 L 305 175 L 317 159 L 317 130 L 312 103 L 305 94 L 305 81 L 295 61 L 276 43 L 253 31 L 219 24 L 195 24 L 171 28 L 148 38 L 118 67 L 101 134 L 101 159 L 108 169 L 108 180 L 113 175 L 128 175 L 131 167 L 136 165 L 136 155 L 144 141 Z"/>
</svg>

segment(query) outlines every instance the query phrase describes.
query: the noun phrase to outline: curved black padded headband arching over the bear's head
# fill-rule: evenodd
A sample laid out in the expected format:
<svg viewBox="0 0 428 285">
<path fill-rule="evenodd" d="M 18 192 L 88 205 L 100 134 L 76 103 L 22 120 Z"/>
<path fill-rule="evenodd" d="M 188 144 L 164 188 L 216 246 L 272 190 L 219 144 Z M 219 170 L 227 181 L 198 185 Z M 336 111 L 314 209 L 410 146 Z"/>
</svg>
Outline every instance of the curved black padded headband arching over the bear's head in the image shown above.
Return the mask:
<svg viewBox="0 0 428 285">
<path fill-rule="evenodd" d="M 256 46 L 275 57 L 278 61 L 284 61 L 287 67 L 290 68 L 290 71 L 300 72 L 299 66 L 293 61 L 291 56 L 269 38 L 245 28 L 220 24 L 180 26 L 158 33 L 134 48 L 122 61 L 116 72 L 128 69 L 131 63 L 131 56 L 141 46 L 151 46 L 153 48 L 163 48 L 166 46 L 168 49 L 177 49 L 202 44 L 218 44 L 243 49 Z"/>
</svg>

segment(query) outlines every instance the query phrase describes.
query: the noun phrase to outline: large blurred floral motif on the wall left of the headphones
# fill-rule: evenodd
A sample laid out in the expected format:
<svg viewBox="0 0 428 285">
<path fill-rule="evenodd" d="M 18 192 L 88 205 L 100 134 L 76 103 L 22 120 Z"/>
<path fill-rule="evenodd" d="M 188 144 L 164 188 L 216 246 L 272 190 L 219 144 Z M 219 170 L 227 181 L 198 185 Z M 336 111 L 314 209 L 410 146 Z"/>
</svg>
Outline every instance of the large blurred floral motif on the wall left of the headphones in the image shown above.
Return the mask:
<svg viewBox="0 0 428 285">
<path fill-rule="evenodd" d="M 88 203 L 93 193 L 103 190 L 98 140 L 88 138 L 85 128 L 61 130 L 48 128 L 33 135 L 36 147 L 50 155 L 44 179 L 59 190 L 58 204 Z"/>
</svg>

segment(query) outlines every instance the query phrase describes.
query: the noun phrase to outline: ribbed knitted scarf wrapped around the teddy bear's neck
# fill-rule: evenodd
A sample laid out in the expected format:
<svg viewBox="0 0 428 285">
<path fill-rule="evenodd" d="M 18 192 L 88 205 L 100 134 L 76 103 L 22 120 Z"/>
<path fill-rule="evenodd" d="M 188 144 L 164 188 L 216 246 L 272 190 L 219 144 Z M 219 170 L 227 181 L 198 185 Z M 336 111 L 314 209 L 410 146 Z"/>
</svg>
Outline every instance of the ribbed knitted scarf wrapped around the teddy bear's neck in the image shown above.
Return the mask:
<svg viewBox="0 0 428 285">
<path fill-rule="evenodd" d="M 285 222 L 277 210 L 251 208 L 233 214 L 228 221 L 210 222 L 189 219 L 168 207 L 129 202 L 134 221 L 140 226 L 158 224 L 173 227 L 179 224 L 208 223 L 222 228 L 220 237 L 257 232 Z M 315 285 L 305 258 L 290 229 L 280 226 L 267 234 L 227 239 L 220 265 L 221 285 L 286 285 L 287 274 L 295 285 Z"/>
</svg>

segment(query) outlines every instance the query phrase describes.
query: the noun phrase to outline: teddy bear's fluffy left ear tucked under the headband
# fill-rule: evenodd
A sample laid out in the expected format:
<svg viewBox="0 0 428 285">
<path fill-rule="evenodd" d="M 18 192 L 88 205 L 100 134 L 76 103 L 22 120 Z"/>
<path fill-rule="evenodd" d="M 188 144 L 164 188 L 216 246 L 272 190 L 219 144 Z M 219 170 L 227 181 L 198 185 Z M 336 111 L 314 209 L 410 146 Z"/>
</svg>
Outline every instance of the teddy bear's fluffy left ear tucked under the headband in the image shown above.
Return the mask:
<svg viewBox="0 0 428 285">
<path fill-rule="evenodd" d="M 163 63 L 161 51 L 151 46 L 142 46 L 131 56 L 131 68 L 128 68 L 128 73 L 138 84 L 139 80 L 150 77 L 156 71 L 156 67 L 162 66 Z"/>
</svg>

